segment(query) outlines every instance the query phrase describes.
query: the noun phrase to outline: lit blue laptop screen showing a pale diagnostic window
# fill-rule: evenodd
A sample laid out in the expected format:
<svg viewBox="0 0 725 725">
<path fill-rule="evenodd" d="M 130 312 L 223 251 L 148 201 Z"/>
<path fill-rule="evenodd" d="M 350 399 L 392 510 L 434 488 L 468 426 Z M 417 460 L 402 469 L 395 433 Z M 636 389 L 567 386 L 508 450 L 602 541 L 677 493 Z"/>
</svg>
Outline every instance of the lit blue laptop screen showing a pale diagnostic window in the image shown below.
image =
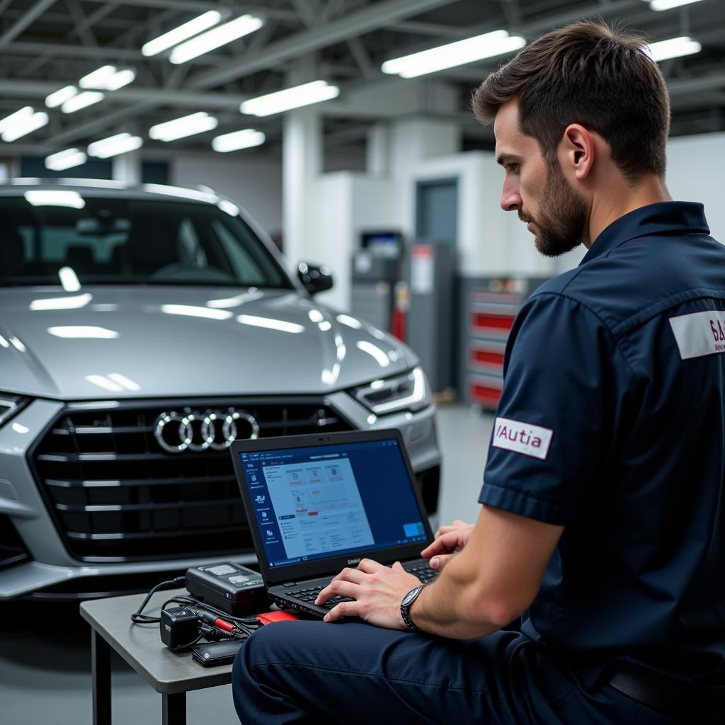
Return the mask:
<svg viewBox="0 0 725 725">
<path fill-rule="evenodd" d="M 239 457 L 270 567 L 428 539 L 395 439 Z"/>
</svg>

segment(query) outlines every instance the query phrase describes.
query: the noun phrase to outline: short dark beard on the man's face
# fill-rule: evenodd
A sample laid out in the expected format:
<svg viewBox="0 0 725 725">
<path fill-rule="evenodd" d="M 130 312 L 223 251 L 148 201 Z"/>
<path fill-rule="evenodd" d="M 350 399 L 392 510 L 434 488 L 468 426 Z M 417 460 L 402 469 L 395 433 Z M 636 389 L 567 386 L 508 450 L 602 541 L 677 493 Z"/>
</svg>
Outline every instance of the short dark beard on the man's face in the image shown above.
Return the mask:
<svg viewBox="0 0 725 725">
<path fill-rule="evenodd" d="M 539 218 L 532 219 L 518 212 L 524 222 L 539 228 L 534 237 L 539 252 L 545 257 L 560 257 L 579 247 L 587 234 L 589 212 L 584 199 L 569 186 L 556 161 L 547 162 L 547 181 L 544 185 Z"/>
</svg>

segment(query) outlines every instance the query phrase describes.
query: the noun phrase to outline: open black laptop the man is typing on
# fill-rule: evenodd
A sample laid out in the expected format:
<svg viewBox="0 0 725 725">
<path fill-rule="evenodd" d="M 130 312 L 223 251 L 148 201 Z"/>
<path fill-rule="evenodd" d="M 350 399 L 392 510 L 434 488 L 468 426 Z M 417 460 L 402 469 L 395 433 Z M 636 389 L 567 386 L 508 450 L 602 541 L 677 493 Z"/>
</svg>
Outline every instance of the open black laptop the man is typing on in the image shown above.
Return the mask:
<svg viewBox="0 0 725 725">
<path fill-rule="evenodd" d="M 241 500 L 268 595 L 323 617 L 318 592 L 363 558 L 395 561 L 421 581 L 433 541 L 400 431 L 352 431 L 231 444 Z"/>
</svg>

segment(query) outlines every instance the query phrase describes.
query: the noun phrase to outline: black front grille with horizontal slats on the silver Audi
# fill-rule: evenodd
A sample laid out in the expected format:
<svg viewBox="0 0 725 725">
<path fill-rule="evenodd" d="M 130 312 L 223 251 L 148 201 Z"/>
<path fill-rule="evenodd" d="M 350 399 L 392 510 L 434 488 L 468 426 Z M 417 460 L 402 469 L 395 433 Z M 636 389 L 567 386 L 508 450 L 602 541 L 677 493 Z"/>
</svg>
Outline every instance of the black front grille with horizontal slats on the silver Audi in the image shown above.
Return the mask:
<svg viewBox="0 0 725 725">
<path fill-rule="evenodd" d="M 252 550 L 229 451 L 168 452 L 154 436 L 162 413 L 229 409 L 252 415 L 260 437 L 350 429 L 312 398 L 69 405 L 31 463 L 70 554 L 128 561 Z"/>
</svg>

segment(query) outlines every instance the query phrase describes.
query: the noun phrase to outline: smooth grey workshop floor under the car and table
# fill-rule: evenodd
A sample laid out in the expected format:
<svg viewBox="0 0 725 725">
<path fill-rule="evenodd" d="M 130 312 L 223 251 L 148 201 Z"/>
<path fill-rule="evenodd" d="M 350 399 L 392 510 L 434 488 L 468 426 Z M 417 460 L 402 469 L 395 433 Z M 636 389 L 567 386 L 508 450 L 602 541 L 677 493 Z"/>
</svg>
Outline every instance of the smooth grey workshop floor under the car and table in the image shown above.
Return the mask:
<svg viewBox="0 0 725 725">
<path fill-rule="evenodd" d="M 492 421 L 463 405 L 439 410 L 442 523 L 476 520 Z M 114 725 L 160 722 L 160 696 L 120 659 L 112 682 Z M 187 716 L 189 725 L 239 724 L 229 686 L 188 693 Z M 91 724 L 90 634 L 77 607 L 0 606 L 0 724 Z"/>
</svg>

